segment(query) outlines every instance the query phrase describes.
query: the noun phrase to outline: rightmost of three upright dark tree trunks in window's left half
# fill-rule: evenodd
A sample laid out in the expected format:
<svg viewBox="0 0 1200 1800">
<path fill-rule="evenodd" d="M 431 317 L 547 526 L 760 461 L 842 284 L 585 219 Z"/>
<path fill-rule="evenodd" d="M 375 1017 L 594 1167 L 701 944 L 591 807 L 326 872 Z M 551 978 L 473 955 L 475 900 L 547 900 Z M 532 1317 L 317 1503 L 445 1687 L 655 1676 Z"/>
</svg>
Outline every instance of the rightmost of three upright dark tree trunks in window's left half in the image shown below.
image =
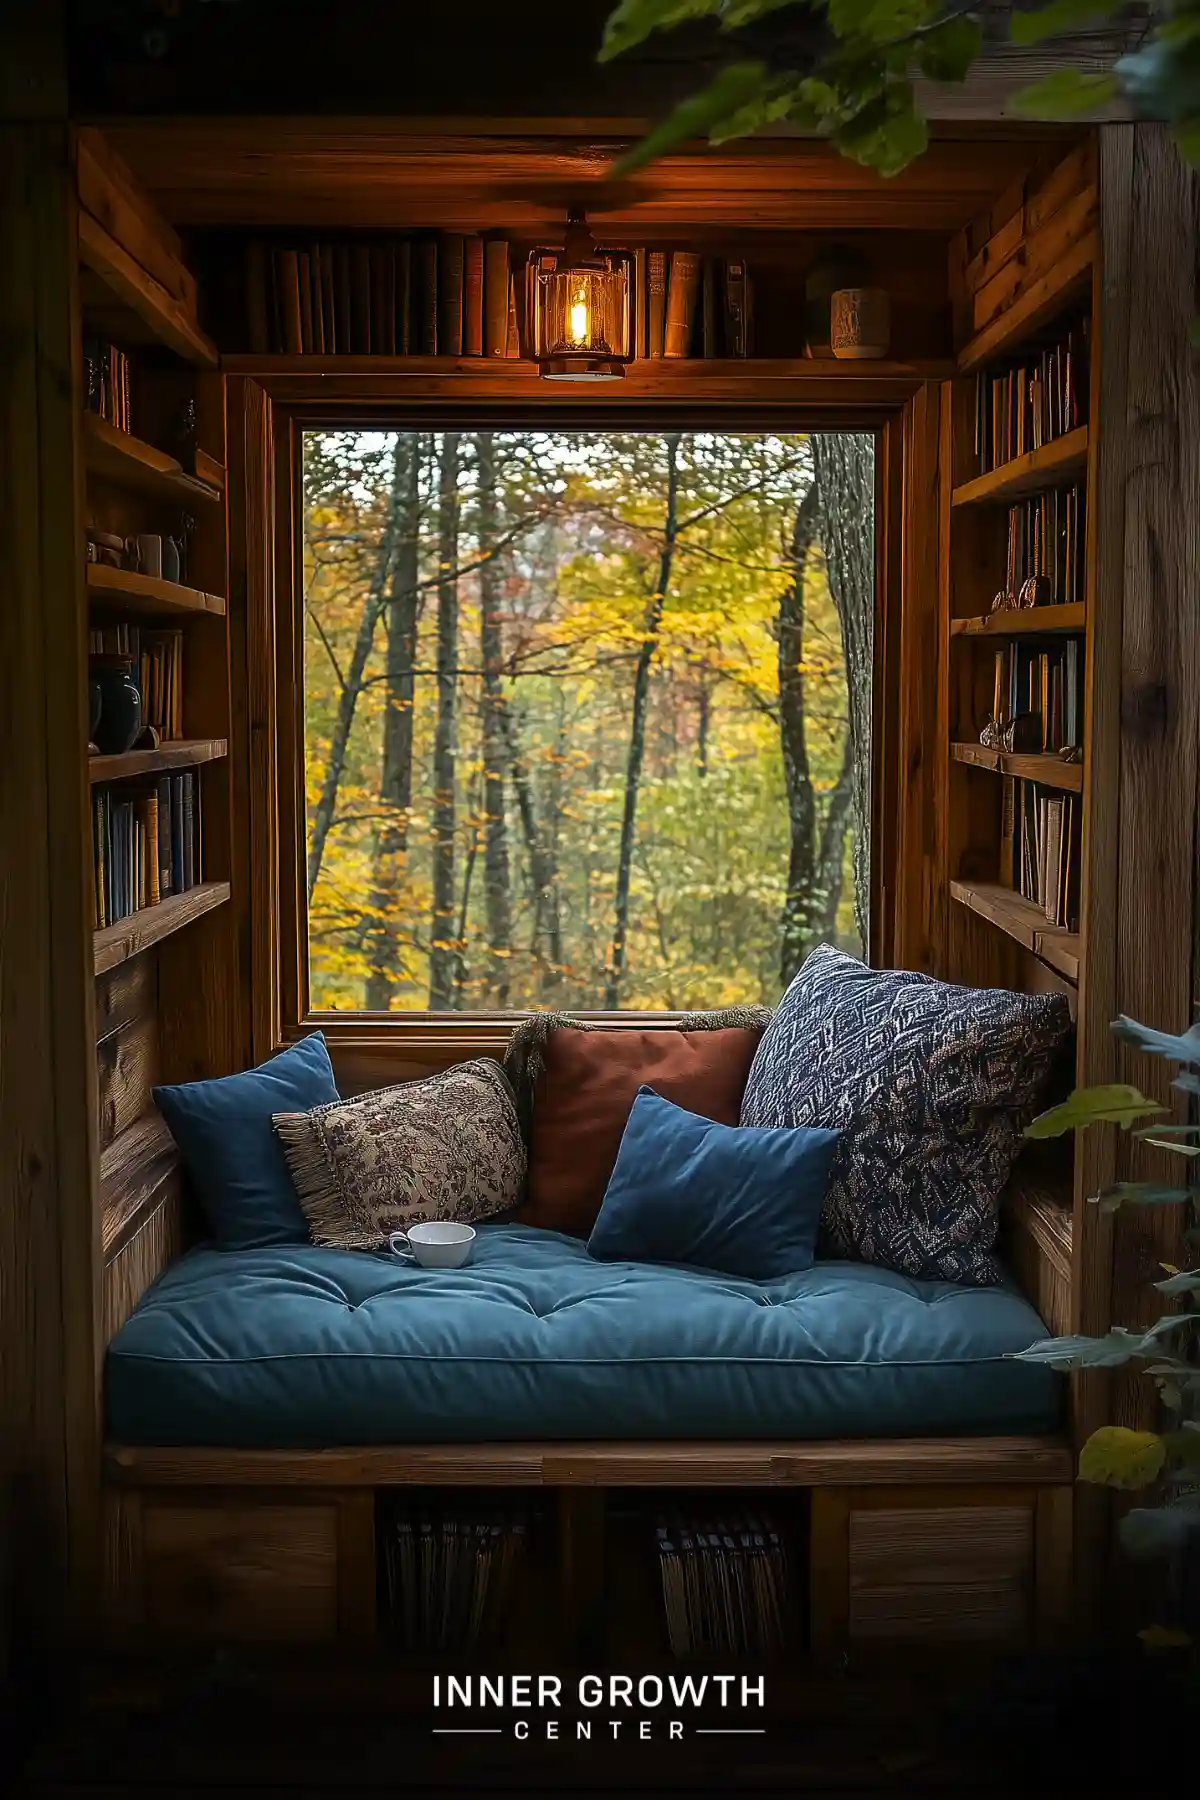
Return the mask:
<svg viewBox="0 0 1200 1800">
<path fill-rule="evenodd" d="M 482 668 L 484 767 L 484 909 L 488 918 L 488 988 L 498 1008 L 509 1003 L 513 898 L 506 799 L 504 643 L 500 632 L 500 562 L 497 542 L 497 464 L 491 432 L 475 437 L 479 457 L 479 635 Z"/>
</svg>

